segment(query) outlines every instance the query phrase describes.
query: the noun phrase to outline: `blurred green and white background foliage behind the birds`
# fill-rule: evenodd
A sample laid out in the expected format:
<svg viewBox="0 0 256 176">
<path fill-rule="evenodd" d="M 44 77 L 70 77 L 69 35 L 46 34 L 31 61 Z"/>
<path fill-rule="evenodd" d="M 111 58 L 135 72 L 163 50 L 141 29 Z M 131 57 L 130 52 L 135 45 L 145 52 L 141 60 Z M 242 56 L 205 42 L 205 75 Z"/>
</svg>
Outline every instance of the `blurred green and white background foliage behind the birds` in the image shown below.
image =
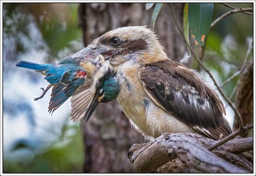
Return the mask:
<svg viewBox="0 0 256 176">
<path fill-rule="evenodd" d="M 253 7 L 252 4 L 232 5 Z M 41 93 L 39 87 L 46 85 L 42 83 L 43 77 L 15 67 L 22 59 L 49 63 L 82 49 L 77 9 L 78 4 L 71 3 L 3 4 L 4 173 L 83 172 L 83 137 L 79 123 L 69 119 L 70 104 L 65 103 L 53 116 L 44 113 L 48 98 L 36 103 L 32 100 Z M 213 20 L 228 10 L 215 4 Z M 203 62 L 219 83 L 240 69 L 252 34 L 253 16 L 242 13 L 225 18 L 211 29 Z M 197 67 L 193 60 L 192 68 Z M 204 72 L 203 75 L 209 80 Z M 224 86 L 227 96 L 237 78 Z M 21 113 L 24 111 L 25 114 Z M 232 125 L 233 112 L 227 111 Z"/>
</svg>

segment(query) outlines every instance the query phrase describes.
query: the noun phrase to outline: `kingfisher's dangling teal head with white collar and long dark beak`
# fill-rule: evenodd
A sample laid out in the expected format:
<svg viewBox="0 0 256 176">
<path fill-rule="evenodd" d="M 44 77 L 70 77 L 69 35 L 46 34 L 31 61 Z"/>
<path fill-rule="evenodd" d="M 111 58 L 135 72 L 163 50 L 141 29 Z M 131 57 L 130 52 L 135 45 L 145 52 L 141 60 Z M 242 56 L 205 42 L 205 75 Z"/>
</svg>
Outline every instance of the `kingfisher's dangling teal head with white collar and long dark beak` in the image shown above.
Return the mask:
<svg viewBox="0 0 256 176">
<path fill-rule="evenodd" d="M 99 103 L 107 103 L 117 98 L 121 89 L 116 71 L 106 61 L 97 71 L 91 86 L 92 100 L 88 106 L 84 119 L 89 120 Z"/>
</svg>

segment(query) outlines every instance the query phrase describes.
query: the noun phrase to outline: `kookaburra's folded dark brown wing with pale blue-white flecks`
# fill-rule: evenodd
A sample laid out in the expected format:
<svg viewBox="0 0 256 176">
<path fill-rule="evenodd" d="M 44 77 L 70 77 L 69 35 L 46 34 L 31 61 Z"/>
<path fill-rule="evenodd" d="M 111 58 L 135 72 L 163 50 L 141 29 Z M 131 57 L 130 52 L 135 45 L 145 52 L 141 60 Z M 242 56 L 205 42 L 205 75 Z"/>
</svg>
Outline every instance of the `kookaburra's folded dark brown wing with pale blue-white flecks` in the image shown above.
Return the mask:
<svg viewBox="0 0 256 176">
<path fill-rule="evenodd" d="M 145 64 L 138 74 L 154 103 L 187 126 L 217 140 L 232 133 L 218 94 L 195 71 L 168 59 Z"/>
</svg>

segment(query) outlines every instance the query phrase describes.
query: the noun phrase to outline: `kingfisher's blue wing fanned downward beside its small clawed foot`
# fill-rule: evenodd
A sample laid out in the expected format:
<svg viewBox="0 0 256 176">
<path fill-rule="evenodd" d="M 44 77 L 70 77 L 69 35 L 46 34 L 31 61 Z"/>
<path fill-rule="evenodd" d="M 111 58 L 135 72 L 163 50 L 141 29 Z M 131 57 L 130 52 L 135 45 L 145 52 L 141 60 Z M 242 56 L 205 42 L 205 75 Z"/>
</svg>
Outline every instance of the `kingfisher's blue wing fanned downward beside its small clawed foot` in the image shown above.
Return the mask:
<svg viewBox="0 0 256 176">
<path fill-rule="evenodd" d="M 62 105 L 75 91 L 84 84 L 84 78 L 73 79 L 69 85 L 56 84 L 52 88 L 51 99 L 48 108 L 49 113 L 53 113 Z"/>
</svg>

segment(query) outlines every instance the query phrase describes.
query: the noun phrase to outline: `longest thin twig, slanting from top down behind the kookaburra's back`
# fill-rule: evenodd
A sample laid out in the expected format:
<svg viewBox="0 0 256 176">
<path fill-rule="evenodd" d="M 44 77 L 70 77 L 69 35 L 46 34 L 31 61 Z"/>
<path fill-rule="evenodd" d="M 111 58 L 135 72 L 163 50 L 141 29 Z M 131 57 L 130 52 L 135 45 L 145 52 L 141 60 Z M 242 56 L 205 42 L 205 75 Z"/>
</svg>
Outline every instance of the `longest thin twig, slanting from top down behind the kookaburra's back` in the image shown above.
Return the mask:
<svg viewBox="0 0 256 176">
<path fill-rule="evenodd" d="M 170 8 L 170 10 L 171 10 L 171 12 L 172 12 L 173 19 L 174 19 L 175 23 L 177 24 L 177 26 L 178 26 L 178 28 L 179 28 L 180 34 L 181 34 L 181 36 L 182 36 L 183 39 L 184 39 L 184 42 L 185 42 L 186 45 L 190 48 L 190 45 L 188 45 L 188 43 L 186 42 L 184 33 L 183 33 L 182 30 L 181 30 L 181 26 L 180 26 L 180 24 L 179 24 L 179 22 L 178 22 L 177 16 L 176 16 L 176 14 L 174 13 L 173 8 L 172 8 L 172 6 L 171 6 L 170 4 L 169 4 L 169 8 Z M 190 50 L 191 50 L 191 53 L 192 53 L 192 55 L 194 56 L 194 58 L 196 58 L 197 62 L 201 65 L 201 67 L 203 67 L 203 69 L 208 73 L 208 75 L 210 76 L 210 78 L 213 80 L 213 83 L 214 83 L 214 85 L 218 88 L 218 90 L 219 90 L 221 96 L 223 96 L 223 98 L 227 101 L 228 105 L 230 105 L 230 107 L 233 109 L 233 111 L 235 112 L 235 114 L 237 114 L 238 120 L 239 120 L 239 122 L 240 122 L 240 127 L 241 127 L 241 128 L 244 128 L 244 124 L 243 124 L 243 121 L 242 121 L 241 114 L 239 113 L 239 111 L 237 110 L 237 108 L 234 107 L 232 101 L 231 101 L 230 99 L 228 99 L 228 97 L 226 96 L 226 94 L 221 90 L 220 86 L 219 86 L 218 83 L 216 82 L 216 80 L 215 80 L 215 78 L 213 77 L 213 75 L 212 75 L 212 73 L 210 72 L 210 70 L 208 70 L 208 69 L 206 68 L 206 66 L 201 62 L 201 60 L 197 57 L 196 53 L 194 53 L 194 51 L 193 51 L 191 48 L 190 48 Z"/>
</svg>

